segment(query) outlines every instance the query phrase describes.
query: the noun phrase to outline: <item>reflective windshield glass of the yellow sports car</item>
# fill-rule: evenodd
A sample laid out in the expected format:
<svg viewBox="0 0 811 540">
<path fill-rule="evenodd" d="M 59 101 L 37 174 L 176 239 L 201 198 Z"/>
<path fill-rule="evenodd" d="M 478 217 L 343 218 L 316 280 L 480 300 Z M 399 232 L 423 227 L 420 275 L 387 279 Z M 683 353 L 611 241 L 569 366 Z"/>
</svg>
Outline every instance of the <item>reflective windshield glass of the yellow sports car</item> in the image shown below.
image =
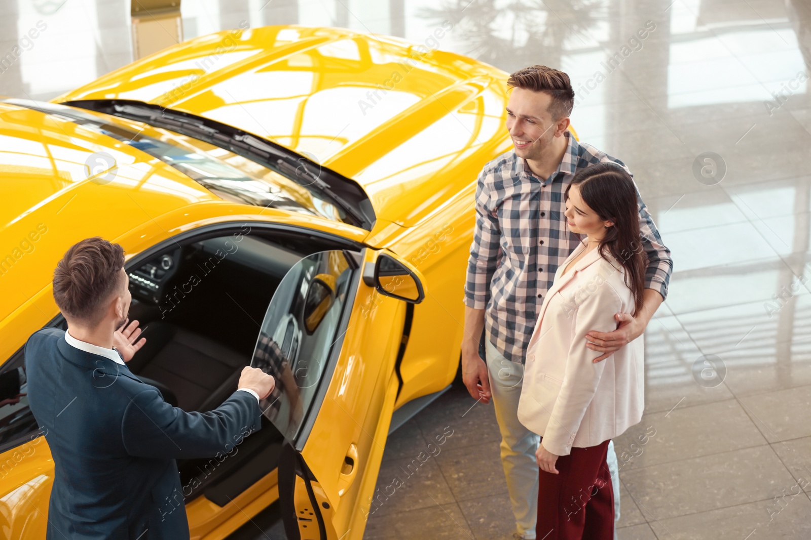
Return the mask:
<svg viewBox="0 0 811 540">
<path fill-rule="evenodd" d="M 65 105 L 5 101 L 65 118 L 115 138 L 161 159 L 225 200 L 363 225 L 345 211 L 345 206 L 334 204 L 333 198 L 320 196 L 320 192 L 313 189 L 311 184 L 315 179 L 307 177 L 311 163 L 310 168 L 305 169 L 304 164 L 296 167 L 279 159 L 277 168 L 269 168 L 255 159 L 174 130 L 143 124 L 130 126 L 127 120 L 111 123 L 104 117 Z M 306 172 L 302 174 L 302 171 Z"/>
</svg>

